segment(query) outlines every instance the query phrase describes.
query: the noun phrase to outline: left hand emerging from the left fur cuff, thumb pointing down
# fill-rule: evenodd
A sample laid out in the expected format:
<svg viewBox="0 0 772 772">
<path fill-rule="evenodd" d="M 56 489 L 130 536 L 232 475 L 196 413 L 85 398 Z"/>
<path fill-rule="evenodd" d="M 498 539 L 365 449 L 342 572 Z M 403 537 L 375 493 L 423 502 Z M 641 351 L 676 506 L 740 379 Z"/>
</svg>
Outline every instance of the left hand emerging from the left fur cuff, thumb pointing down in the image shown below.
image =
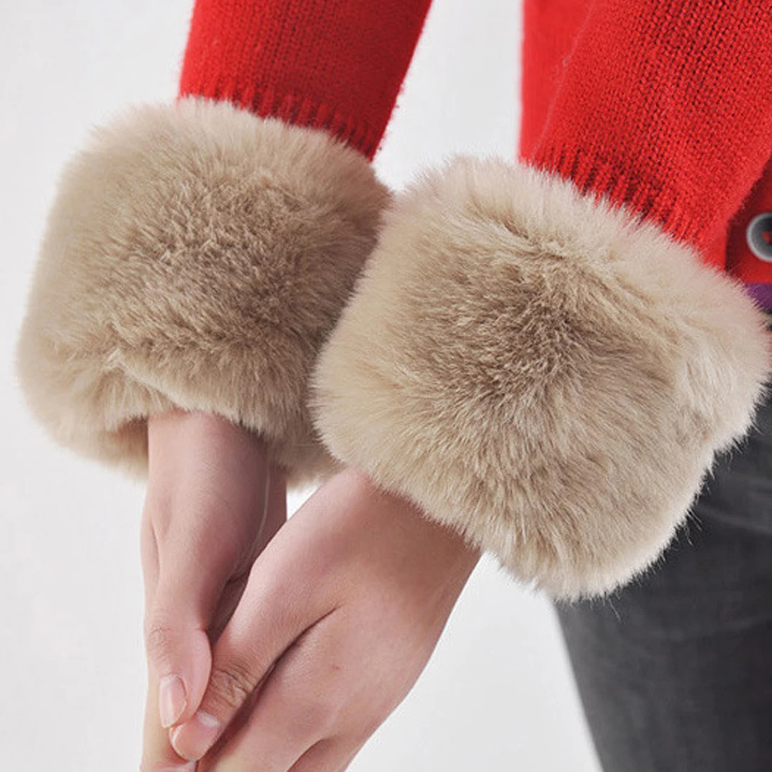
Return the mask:
<svg viewBox="0 0 772 772">
<path fill-rule="evenodd" d="M 148 420 L 142 516 L 148 692 L 142 770 L 192 768 L 168 730 L 195 713 L 211 645 L 257 555 L 286 520 L 286 486 L 253 432 L 202 412 Z"/>
</svg>

